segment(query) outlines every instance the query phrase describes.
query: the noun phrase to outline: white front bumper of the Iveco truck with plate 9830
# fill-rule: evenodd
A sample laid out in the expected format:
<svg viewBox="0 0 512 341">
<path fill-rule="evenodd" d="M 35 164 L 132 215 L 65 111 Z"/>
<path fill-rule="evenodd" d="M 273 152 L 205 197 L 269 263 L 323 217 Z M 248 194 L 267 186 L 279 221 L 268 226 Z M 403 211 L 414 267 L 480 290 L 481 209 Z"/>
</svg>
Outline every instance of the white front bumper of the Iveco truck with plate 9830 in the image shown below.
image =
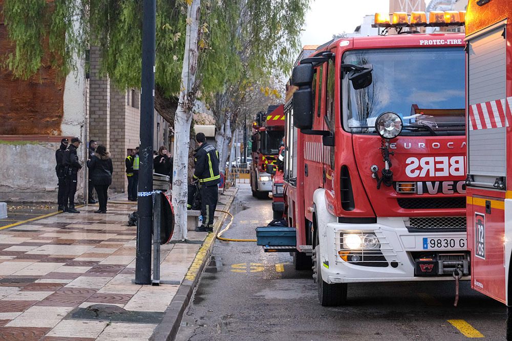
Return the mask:
<svg viewBox="0 0 512 341">
<path fill-rule="evenodd" d="M 434 231 L 411 233 L 405 227 L 403 218 L 384 218 L 383 220 L 379 219 L 377 223 L 373 224 L 328 223 L 324 230 L 324 236 L 323 238 L 321 237 L 321 247 L 324 247 L 321 251 L 321 261 L 323 262 L 323 266 L 321 266 L 322 278 L 327 283 L 453 281 L 454 278 L 451 276 L 451 273 L 443 276 L 437 274 L 429 274 L 431 276 L 415 275 L 415 268 L 417 267 L 415 258 L 418 255 L 454 254 L 458 255 L 458 257 L 467 258 L 465 244 L 462 242 L 465 242 L 465 232 L 440 233 L 436 232 L 436 229 L 432 230 Z M 375 250 L 377 254 L 380 252 L 380 258 L 370 257 L 369 261 L 359 262 L 344 260 L 340 253 L 343 255 L 347 251 L 341 236 L 347 233 L 374 234 L 380 243 L 380 249 Z M 453 238 L 460 241 L 464 247 L 424 249 L 424 238 Z M 350 255 L 353 253 L 356 253 L 356 251 L 349 252 Z M 446 264 L 449 263 L 446 262 Z M 453 265 L 453 263 L 450 264 Z M 468 261 L 464 265 L 467 268 Z M 437 263 L 435 266 L 434 271 L 437 271 Z M 439 266 L 442 267 L 442 263 L 439 263 Z M 468 270 L 466 275 L 468 275 Z M 462 277 L 462 280 L 469 279 L 470 276 Z"/>
</svg>

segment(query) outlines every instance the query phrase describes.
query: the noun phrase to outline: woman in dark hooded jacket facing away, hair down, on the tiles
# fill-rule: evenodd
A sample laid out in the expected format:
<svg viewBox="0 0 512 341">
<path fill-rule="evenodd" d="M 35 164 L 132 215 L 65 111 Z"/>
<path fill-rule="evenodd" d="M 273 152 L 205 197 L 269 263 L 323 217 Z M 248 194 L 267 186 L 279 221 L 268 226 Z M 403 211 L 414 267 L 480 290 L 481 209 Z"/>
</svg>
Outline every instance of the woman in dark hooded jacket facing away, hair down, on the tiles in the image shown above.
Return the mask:
<svg viewBox="0 0 512 341">
<path fill-rule="evenodd" d="M 99 145 L 96 147 L 96 152 L 87 167 L 99 200 L 99 210 L 94 211 L 94 213 L 106 213 L 106 201 L 109 198 L 109 186 L 112 184 L 114 167 L 112 166 L 110 153 L 106 151 L 105 146 Z"/>
</svg>

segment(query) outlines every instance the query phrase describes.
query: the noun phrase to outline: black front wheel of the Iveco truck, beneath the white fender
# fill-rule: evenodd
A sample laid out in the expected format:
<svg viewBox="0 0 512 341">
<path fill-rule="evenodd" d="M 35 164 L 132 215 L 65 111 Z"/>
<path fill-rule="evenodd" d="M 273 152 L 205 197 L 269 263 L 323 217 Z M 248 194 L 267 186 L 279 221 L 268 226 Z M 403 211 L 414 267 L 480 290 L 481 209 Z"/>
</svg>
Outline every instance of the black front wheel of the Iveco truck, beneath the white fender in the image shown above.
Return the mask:
<svg viewBox="0 0 512 341">
<path fill-rule="evenodd" d="M 316 236 L 318 241 L 318 235 Z M 320 245 L 313 250 L 313 278 L 317 284 L 318 302 L 324 307 L 336 307 L 347 302 L 347 283 L 328 284 L 322 279 Z"/>
</svg>

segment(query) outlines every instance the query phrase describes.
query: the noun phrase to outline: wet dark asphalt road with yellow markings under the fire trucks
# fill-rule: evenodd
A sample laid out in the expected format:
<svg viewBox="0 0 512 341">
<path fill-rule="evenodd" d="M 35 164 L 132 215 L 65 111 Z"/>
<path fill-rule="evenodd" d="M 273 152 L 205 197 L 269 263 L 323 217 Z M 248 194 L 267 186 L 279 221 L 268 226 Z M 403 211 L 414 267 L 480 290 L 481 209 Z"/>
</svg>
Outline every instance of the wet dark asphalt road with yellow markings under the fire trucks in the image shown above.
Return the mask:
<svg viewBox="0 0 512 341">
<path fill-rule="evenodd" d="M 240 185 L 228 238 L 255 238 L 271 220 L 270 200 Z M 283 266 L 281 266 L 283 264 Z M 276 266 L 277 265 L 277 266 Z M 348 305 L 318 304 L 312 271 L 296 271 L 287 253 L 217 240 L 177 340 L 463 340 L 447 320 L 464 320 L 486 339 L 505 338 L 504 305 L 454 282 L 349 285 Z"/>
</svg>

